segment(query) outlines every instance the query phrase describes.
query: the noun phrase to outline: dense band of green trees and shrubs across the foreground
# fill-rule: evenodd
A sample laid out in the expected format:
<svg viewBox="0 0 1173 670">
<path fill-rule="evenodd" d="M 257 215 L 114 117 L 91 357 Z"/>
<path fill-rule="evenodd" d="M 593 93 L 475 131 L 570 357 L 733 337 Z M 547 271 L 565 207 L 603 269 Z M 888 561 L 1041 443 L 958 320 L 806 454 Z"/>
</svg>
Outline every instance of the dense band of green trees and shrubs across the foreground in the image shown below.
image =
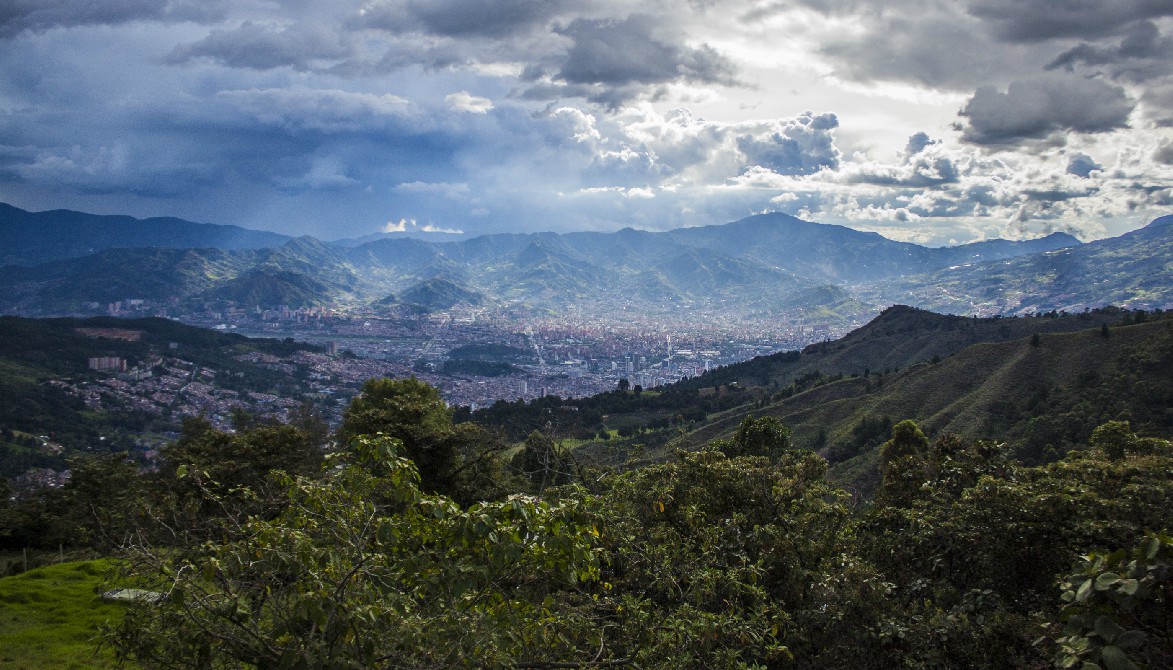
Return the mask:
<svg viewBox="0 0 1173 670">
<path fill-rule="evenodd" d="M 616 473 L 382 380 L 320 439 L 192 421 L 157 474 L 79 461 L 0 528 L 158 594 L 104 636 L 150 668 L 1173 661 L 1173 444 L 1125 421 L 1045 466 L 901 421 L 866 505 L 768 417 Z"/>
</svg>

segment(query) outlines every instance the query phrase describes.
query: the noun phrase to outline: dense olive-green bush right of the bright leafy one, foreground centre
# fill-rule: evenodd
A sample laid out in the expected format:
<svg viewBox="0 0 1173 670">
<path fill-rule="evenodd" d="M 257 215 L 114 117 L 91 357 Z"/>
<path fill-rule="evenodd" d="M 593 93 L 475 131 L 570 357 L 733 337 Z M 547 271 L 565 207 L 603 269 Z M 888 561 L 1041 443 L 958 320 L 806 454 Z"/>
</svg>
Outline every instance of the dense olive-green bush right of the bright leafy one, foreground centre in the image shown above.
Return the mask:
<svg viewBox="0 0 1173 670">
<path fill-rule="evenodd" d="M 639 668 L 774 668 L 825 658 L 865 629 L 877 591 L 850 554 L 846 495 L 809 452 L 778 462 L 682 453 L 626 473 L 599 495 L 615 656 Z M 586 666 L 586 665 L 584 665 Z"/>
</svg>

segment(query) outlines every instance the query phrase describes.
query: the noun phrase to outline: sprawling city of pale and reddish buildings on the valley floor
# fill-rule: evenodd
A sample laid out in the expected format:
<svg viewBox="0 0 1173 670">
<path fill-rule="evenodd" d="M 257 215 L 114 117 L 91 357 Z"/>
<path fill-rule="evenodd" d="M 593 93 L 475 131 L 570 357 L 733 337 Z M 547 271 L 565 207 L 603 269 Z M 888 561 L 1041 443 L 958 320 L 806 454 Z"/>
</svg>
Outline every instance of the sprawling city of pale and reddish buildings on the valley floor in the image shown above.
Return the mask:
<svg viewBox="0 0 1173 670">
<path fill-rule="evenodd" d="M 552 314 L 465 304 L 427 313 L 339 306 L 245 310 L 230 304 L 175 313 L 174 306 L 137 299 L 103 307 L 110 316 L 162 316 L 248 337 L 318 345 L 324 353 L 299 352 L 289 360 L 263 363 L 291 366 L 290 372 L 304 368 L 303 377 L 314 391 L 337 394 L 340 401 L 372 377 L 415 375 L 439 387 L 449 405 L 473 410 L 497 400 L 589 397 L 616 388 L 621 380 L 631 387 L 655 388 L 717 366 L 834 339 L 867 318 L 832 325 L 771 314 L 689 310 L 653 314 L 633 306 L 609 312 L 571 306 Z M 453 359 L 449 354 L 461 356 L 469 345 L 495 345 L 509 353 L 508 365 L 474 372 L 446 365 Z M 184 413 L 218 414 L 243 400 L 248 399 L 210 393 L 205 399 L 194 398 Z"/>
</svg>

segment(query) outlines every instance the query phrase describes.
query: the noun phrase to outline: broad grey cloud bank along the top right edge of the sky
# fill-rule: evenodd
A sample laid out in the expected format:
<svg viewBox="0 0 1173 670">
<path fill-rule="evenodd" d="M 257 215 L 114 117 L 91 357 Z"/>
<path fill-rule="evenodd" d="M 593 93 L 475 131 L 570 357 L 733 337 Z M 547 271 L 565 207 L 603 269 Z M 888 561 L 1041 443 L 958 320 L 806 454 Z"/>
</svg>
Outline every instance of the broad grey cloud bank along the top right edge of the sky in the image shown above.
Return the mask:
<svg viewBox="0 0 1173 670">
<path fill-rule="evenodd" d="M 838 76 L 972 90 L 1035 76 L 1047 67 L 1106 65 L 1113 79 L 1143 82 L 1169 74 L 1153 19 L 1173 15 L 1169 0 L 798 0 L 859 31 L 829 36 L 819 53 Z M 774 2 L 765 13 L 789 11 Z M 1108 41 L 1124 38 L 1119 46 Z M 1082 41 L 1072 48 L 1072 43 Z M 1125 79 L 1127 77 L 1127 79 Z"/>
</svg>

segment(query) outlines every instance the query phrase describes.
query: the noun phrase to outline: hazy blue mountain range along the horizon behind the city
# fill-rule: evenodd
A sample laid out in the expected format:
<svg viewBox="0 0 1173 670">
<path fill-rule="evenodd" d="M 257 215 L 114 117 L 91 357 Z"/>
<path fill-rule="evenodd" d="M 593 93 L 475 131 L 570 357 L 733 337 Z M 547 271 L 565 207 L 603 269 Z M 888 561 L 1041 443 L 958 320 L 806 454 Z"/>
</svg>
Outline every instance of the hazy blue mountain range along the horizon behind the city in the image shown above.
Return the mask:
<svg viewBox="0 0 1173 670">
<path fill-rule="evenodd" d="M 1057 232 L 950 248 L 764 214 L 665 232 L 323 242 L 179 219 L 0 205 L 0 310 L 82 313 L 127 298 L 290 307 L 463 302 L 678 309 L 836 320 L 903 303 L 1028 313 L 1173 305 L 1173 217 L 1082 244 Z M 128 269 L 133 269 L 129 271 Z"/>
</svg>

